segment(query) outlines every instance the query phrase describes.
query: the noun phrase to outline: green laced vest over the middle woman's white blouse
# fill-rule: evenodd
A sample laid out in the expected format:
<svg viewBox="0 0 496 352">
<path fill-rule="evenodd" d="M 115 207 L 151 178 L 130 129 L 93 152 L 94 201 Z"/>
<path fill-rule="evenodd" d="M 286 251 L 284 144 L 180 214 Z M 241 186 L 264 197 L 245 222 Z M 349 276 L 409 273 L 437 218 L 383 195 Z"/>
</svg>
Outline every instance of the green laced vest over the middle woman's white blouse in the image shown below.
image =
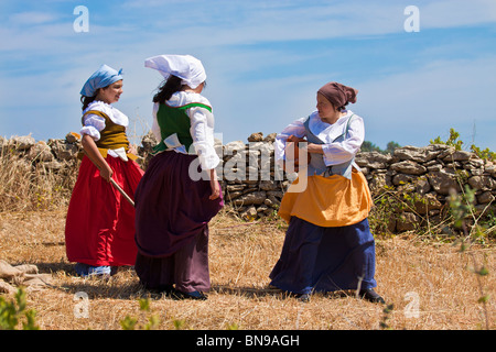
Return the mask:
<svg viewBox="0 0 496 352">
<path fill-rule="evenodd" d="M 190 132 L 191 120 L 186 113 L 187 109 L 194 107 L 205 108 L 212 112 L 211 107 L 201 102 L 192 102 L 182 107 L 170 107 L 165 103 L 159 106 L 159 111 L 157 111 L 157 122 L 160 127 L 161 141 L 153 147 L 153 154 L 168 150 L 169 147 L 163 141 L 174 133 L 190 154 L 196 154 L 194 147 L 190 150 L 193 145 L 193 138 Z"/>
</svg>

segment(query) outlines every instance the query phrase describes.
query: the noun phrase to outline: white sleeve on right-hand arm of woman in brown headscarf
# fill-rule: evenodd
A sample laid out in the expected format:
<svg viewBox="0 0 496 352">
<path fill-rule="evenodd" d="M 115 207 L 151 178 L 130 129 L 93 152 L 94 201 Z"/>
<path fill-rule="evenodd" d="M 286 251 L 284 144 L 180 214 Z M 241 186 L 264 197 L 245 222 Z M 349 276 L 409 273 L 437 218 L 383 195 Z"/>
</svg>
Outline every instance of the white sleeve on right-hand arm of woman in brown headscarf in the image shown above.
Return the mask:
<svg viewBox="0 0 496 352">
<path fill-rule="evenodd" d="M 337 165 L 351 161 L 359 151 L 364 139 L 364 120 L 355 116 L 349 123 L 349 130 L 344 141 L 323 144 L 325 165 Z"/>
</svg>

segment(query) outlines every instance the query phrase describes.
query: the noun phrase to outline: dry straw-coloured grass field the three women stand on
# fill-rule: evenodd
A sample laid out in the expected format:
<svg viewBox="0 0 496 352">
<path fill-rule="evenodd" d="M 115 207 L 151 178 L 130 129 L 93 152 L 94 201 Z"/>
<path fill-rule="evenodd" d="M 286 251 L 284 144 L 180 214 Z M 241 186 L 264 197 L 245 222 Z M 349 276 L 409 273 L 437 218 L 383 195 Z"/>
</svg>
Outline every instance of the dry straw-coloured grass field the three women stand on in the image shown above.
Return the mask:
<svg viewBox="0 0 496 352">
<path fill-rule="evenodd" d="M 315 295 L 310 302 L 268 287 L 268 275 L 284 239 L 281 220 L 247 223 L 222 211 L 211 222 L 208 300 L 172 300 L 143 290 L 131 267 L 109 280 L 76 277 L 65 257 L 66 206 L 57 210 L 0 212 L 0 258 L 35 264 L 53 277 L 51 286 L 28 290 L 28 309 L 42 330 L 120 330 L 127 317 L 143 327 L 151 316 L 157 329 L 193 330 L 476 330 L 495 328 L 495 246 L 421 241 L 413 233 L 377 238 L 377 292 L 384 306 L 354 293 Z M 474 274 L 474 260 L 489 275 Z M 478 282 L 481 279 L 481 282 Z M 477 300 L 490 298 L 484 309 Z M 88 300 L 77 299 L 84 293 Z M 150 311 L 140 310 L 148 298 Z M 86 310 L 82 310 L 82 304 Z M 386 320 L 385 320 L 386 319 Z"/>
</svg>

